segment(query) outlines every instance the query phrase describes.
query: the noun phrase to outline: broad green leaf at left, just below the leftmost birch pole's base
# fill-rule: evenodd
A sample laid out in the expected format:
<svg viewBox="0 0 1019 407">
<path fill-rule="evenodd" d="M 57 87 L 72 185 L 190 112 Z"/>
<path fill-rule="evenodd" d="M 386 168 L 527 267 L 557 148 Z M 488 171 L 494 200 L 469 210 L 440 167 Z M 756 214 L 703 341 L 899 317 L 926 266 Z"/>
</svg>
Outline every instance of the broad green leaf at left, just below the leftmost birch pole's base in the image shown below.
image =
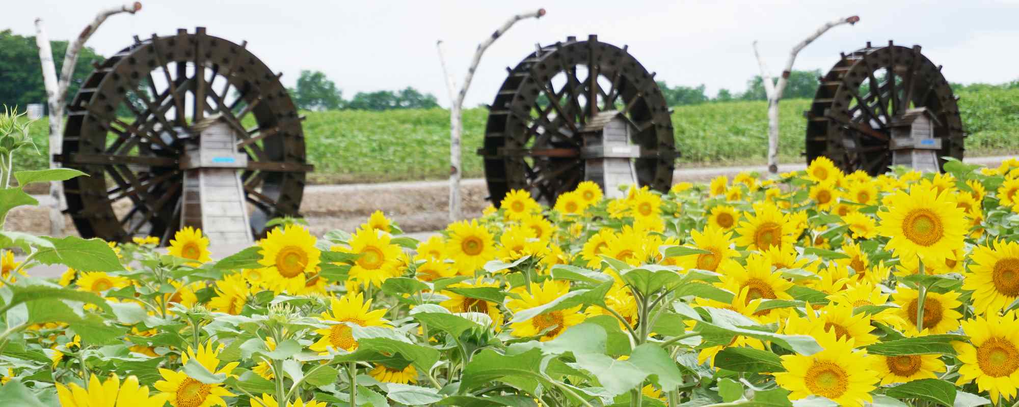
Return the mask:
<svg viewBox="0 0 1019 407">
<path fill-rule="evenodd" d="M 117 254 L 102 239 L 67 236 L 62 239 L 43 236 L 53 244 L 36 253 L 44 265 L 64 265 L 82 272 L 118 272 L 124 270 Z"/>
</svg>

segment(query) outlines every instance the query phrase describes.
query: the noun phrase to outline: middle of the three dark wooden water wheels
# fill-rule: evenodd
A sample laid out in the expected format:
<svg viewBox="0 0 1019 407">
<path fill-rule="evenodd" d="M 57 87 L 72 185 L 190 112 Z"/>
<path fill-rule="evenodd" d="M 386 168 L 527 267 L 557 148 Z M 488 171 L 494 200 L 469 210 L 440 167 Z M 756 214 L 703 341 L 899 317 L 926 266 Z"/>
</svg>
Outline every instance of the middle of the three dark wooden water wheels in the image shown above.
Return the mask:
<svg viewBox="0 0 1019 407">
<path fill-rule="evenodd" d="M 678 154 L 668 107 L 654 74 L 627 47 L 599 42 L 597 36 L 570 37 L 539 46 L 506 70 L 490 107 L 484 148 L 478 150 L 493 204 L 512 189 L 552 204 L 585 179 L 605 187 L 612 184 L 611 168 L 592 170 L 604 159 L 626 159 L 630 164 L 621 167 L 630 166 L 640 185 L 659 190 L 672 185 Z M 632 146 L 602 148 L 591 136 L 612 117 L 629 127 Z"/>
</svg>

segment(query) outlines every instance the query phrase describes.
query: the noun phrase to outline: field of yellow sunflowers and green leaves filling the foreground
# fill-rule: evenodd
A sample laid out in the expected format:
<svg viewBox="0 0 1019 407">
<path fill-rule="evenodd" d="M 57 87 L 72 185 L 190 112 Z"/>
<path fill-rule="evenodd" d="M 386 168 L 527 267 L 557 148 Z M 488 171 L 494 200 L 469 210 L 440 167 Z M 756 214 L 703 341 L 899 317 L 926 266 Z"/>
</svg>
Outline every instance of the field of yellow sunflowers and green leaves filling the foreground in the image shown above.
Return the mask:
<svg viewBox="0 0 1019 407">
<path fill-rule="evenodd" d="M 282 219 L 221 259 L 0 232 L 0 405 L 1012 405 L 1019 161 L 946 169 L 513 191 L 424 241 Z"/>
</svg>

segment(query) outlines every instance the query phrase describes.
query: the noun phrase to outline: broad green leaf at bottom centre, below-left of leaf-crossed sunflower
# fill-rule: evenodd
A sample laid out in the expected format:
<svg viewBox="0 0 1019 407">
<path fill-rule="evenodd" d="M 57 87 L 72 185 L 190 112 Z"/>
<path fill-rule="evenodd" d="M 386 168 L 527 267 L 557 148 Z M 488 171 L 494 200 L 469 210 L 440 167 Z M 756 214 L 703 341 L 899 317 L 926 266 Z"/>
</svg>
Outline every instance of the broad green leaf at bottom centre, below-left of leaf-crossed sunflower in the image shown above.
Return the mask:
<svg viewBox="0 0 1019 407">
<path fill-rule="evenodd" d="M 461 391 L 470 392 L 491 382 L 502 382 L 533 394 L 540 383 L 537 368 L 543 357 L 539 349 L 515 355 L 503 355 L 491 348 L 482 349 L 464 368 Z"/>
</svg>

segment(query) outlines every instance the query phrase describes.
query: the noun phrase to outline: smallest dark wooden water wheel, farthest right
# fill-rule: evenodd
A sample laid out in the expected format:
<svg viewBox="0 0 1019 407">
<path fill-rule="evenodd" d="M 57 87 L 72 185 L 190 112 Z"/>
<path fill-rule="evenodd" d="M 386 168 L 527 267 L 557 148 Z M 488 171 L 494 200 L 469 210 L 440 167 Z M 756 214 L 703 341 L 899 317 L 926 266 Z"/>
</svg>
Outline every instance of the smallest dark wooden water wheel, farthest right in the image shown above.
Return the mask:
<svg viewBox="0 0 1019 407">
<path fill-rule="evenodd" d="M 867 46 L 842 54 L 820 77 L 807 117 L 807 163 L 827 157 L 846 173 L 863 170 L 877 175 L 893 164 L 892 128 L 910 111 L 932 117 L 933 138 L 942 157 L 962 159 L 963 132 L 957 98 L 941 72 L 920 53 L 906 48 Z"/>
</svg>

